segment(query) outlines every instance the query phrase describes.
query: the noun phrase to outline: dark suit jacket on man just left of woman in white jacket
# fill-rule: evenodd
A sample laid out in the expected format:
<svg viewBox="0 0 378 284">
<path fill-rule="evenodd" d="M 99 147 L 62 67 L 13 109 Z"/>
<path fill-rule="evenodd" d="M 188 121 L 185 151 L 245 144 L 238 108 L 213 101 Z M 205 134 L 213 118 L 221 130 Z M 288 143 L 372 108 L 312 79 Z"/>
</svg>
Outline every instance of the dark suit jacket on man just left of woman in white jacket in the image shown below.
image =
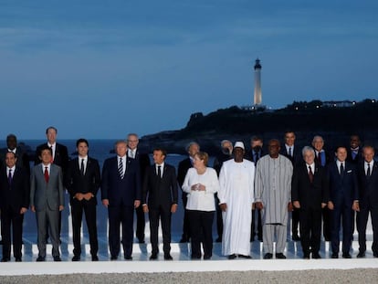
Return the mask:
<svg viewBox="0 0 378 284">
<path fill-rule="evenodd" d="M 172 165 L 164 163 L 163 176 L 156 174 L 155 164 L 147 168 L 143 181 L 142 204 L 146 204 L 148 195 L 148 206 L 150 208 L 163 207 L 171 208 L 171 205 L 178 204 L 177 179 L 175 169 Z"/>
</svg>

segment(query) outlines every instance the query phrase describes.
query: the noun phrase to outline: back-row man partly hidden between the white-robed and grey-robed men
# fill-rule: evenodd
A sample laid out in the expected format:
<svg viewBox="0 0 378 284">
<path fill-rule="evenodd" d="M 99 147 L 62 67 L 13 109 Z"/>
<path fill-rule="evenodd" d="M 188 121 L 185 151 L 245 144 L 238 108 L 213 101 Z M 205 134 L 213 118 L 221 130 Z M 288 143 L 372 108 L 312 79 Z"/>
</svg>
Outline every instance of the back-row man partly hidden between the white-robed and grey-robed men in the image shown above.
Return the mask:
<svg viewBox="0 0 378 284">
<path fill-rule="evenodd" d="M 257 161 L 264 155 L 263 153 L 263 140 L 259 136 L 252 136 L 251 138 L 251 149 L 246 153 L 246 159 L 255 163 L 257 166 Z M 256 213 L 257 213 L 257 239 L 262 242 L 262 223 L 261 223 L 261 210 L 252 209 L 252 224 L 251 224 L 251 242 L 255 240 L 256 235 Z"/>
</svg>

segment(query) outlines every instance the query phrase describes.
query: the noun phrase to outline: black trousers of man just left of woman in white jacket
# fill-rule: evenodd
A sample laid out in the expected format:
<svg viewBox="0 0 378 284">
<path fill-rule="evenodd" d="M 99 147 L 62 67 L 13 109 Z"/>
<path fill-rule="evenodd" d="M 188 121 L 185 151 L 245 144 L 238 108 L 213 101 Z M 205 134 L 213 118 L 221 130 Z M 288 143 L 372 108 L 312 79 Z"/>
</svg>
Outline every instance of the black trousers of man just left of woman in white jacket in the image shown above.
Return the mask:
<svg viewBox="0 0 378 284">
<path fill-rule="evenodd" d="M 159 252 L 159 220 L 162 221 L 164 255 L 171 252 L 171 206 L 149 207 L 152 254 Z"/>
</svg>

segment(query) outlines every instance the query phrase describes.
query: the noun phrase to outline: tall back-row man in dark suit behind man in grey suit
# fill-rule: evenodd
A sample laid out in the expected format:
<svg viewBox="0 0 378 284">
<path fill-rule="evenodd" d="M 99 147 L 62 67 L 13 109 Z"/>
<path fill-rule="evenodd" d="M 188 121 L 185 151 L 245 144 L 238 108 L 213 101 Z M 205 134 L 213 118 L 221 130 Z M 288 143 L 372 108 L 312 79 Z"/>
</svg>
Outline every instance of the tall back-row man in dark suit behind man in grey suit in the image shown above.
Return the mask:
<svg viewBox="0 0 378 284">
<path fill-rule="evenodd" d="M 36 160 L 35 160 L 34 164 L 41 163 L 41 161 L 39 160 L 39 157 L 41 156 L 41 150 L 45 149 L 46 147 L 49 147 L 49 148 L 51 148 L 51 151 L 52 151 L 51 163 L 54 163 L 61 168 L 63 178 L 64 178 L 66 171 L 67 171 L 67 167 L 68 167 L 68 161 L 69 161 L 68 150 L 67 150 L 67 147 L 65 145 L 62 145 L 62 144 L 57 142 L 57 134 L 58 134 L 58 130 L 54 126 L 47 127 L 47 129 L 46 129 L 47 142 L 37 146 Z M 62 215 L 61 215 L 61 213 L 59 213 L 59 225 L 58 226 L 59 226 L 59 235 L 60 235 L 61 226 L 62 226 Z M 49 236 L 49 233 L 47 231 L 46 237 L 48 238 L 48 236 Z M 59 240 L 59 242 L 60 242 L 60 240 Z"/>
</svg>

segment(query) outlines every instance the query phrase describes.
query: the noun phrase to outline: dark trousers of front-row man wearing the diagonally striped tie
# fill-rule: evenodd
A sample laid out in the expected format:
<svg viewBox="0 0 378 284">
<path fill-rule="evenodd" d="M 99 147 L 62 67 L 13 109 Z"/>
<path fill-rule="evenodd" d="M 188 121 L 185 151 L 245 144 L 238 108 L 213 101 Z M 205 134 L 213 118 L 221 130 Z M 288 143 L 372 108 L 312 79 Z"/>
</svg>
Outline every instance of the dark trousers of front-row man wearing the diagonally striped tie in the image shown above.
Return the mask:
<svg viewBox="0 0 378 284">
<path fill-rule="evenodd" d="M 109 214 L 109 248 L 111 257 L 118 257 L 120 254 L 121 226 L 122 226 L 122 246 L 124 257 L 131 257 L 132 240 L 134 236 L 134 207 L 114 206 L 108 207 Z"/>
</svg>

